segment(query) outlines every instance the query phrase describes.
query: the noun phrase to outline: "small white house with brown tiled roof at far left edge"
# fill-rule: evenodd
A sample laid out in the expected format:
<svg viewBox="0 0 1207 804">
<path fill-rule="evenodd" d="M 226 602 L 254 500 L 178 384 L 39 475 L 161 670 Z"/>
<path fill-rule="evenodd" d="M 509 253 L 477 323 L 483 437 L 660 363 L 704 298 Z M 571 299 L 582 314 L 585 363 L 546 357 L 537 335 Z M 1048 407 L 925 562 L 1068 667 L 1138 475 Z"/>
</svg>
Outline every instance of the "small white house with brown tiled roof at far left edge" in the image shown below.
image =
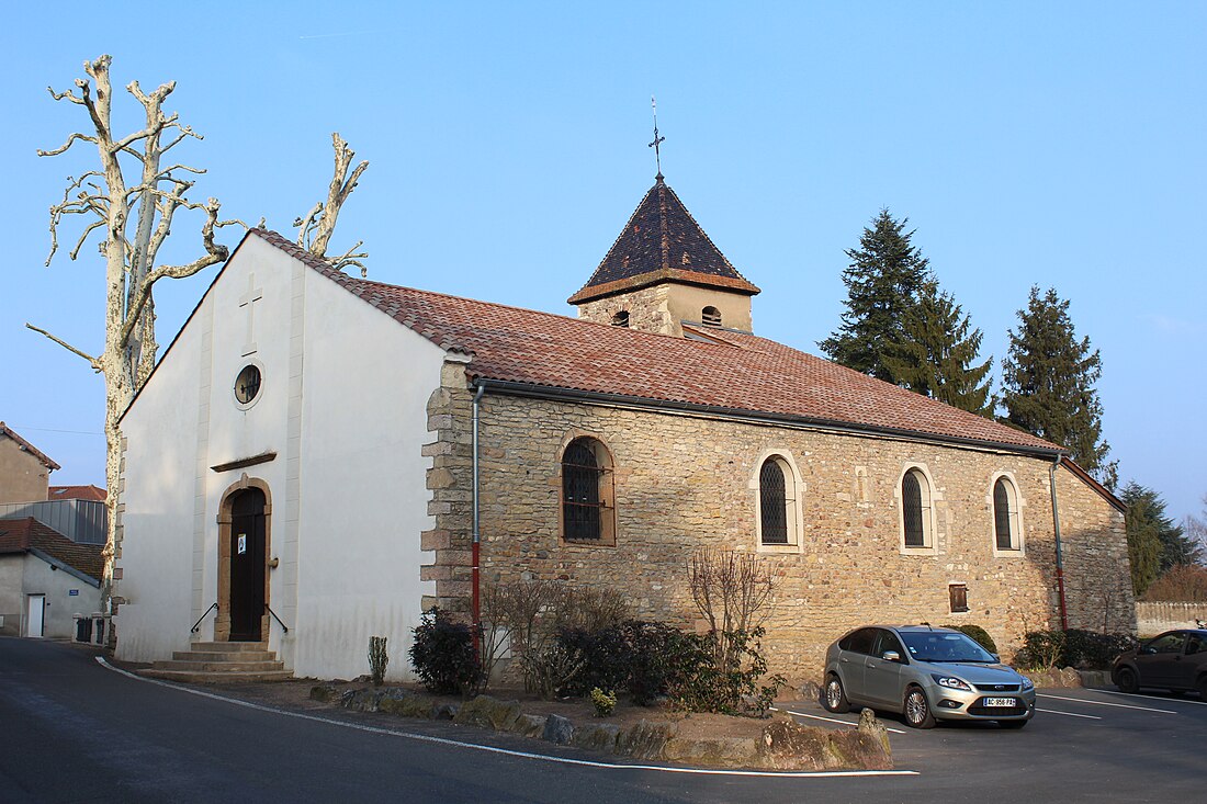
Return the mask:
<svg viewBox="0 0 1207 804">
<path fill-rule="evenodd" d="M 0 519 L 0 634 L 75 639 L 100 610 L 100 549 L 33 517 Z"/>
</svg>

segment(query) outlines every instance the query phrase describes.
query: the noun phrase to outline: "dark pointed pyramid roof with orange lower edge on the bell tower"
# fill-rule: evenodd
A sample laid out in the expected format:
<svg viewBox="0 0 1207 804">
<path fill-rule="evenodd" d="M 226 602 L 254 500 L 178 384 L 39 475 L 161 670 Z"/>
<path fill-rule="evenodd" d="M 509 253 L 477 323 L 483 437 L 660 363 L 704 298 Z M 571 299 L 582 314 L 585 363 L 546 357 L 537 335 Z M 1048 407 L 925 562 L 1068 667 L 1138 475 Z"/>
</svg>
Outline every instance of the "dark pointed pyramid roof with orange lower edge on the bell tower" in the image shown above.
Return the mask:
<svg viewBox="0 0 1207 804">
<path fill-rule="evenodd" d="M 620 235 L 571 304 L 663 281 L 721 287 L 753 296 L 759 290 L 725 260 L 658 174 Z"/>
</svg>

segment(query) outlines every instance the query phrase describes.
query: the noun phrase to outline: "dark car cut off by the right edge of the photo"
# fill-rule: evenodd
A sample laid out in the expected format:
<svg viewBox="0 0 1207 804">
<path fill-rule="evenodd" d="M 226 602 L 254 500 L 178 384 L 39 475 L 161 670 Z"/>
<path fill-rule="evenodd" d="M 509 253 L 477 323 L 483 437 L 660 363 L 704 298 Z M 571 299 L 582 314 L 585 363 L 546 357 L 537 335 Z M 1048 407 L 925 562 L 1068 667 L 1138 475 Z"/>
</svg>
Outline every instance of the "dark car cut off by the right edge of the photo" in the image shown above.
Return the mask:
<svg viewBox="0 0 1207 804">
<path fill-rule="evenodd" d="M 1183 693 L 1197 689 L 1207 700 L 1207 629 L 1166 631 L 1115 659 L 1110 680 L 1121 692 L 1160 687 Z"/>
</svg>

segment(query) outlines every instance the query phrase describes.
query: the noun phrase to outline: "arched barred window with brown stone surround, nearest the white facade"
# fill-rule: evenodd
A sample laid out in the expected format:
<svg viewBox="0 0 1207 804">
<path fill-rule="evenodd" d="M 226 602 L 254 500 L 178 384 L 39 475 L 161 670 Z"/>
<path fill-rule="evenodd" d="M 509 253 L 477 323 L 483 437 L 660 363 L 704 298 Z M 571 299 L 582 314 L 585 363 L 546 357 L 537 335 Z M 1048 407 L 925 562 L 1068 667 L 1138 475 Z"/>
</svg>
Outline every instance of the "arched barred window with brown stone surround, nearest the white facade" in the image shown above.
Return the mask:
<svg viewBox="0 0 1207 804">
<path fill-rule="evenodd" d="M 576 438 L 561 455 L 561 532 L 566 541 L 616 543 L 612 460 L 595 438 Z"/>
</svg>

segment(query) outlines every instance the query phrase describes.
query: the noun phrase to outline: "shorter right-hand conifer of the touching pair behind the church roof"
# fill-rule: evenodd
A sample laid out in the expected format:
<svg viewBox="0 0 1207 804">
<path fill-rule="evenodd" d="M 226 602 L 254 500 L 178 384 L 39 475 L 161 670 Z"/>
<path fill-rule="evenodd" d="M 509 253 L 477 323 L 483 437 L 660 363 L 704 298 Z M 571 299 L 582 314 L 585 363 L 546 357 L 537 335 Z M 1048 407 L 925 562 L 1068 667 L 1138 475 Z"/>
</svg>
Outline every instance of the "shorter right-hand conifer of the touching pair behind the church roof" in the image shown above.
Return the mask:
<svg viewBox="0 0 1207 804">
<path fill-rule="evenodd" d="M 993 415 L 997 400 L 987 380 L 993 359 L 974 366 L 981 331 L 973 330 L 955 299 L 928 280 L 917 304 L 906 314 L 904 339 L 890 344 L 884 363 L 898 385 L 952 407 Z"/>
</svg>

